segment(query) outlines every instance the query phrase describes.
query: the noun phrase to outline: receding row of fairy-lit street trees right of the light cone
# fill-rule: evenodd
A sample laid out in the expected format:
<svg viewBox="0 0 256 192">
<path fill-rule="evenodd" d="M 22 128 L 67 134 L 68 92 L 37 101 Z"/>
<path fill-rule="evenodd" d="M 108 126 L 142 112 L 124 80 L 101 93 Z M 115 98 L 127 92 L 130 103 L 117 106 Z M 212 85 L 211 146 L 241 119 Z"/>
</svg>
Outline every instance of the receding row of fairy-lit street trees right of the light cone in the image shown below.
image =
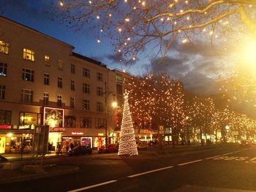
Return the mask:
<svg viewBox="0 0 256 192">
<path fill-rule="evenodd" d="M 241 134 L 256 130 L 256 120 L 227 106 L 219 109 L 211 97 L 193 96 L 192 101 L 185 102 L 181 82 L 169 80 L 162 74 L 150 74 L 132 81 L 129 88 L 135 128 L 157 129 L 163 125 L 181 132 L 185 126 L 191 126 L 205 136 L 214 131 L 224 134 L 227 126 L 230 131 L 240 131 Z"/>
</svg>

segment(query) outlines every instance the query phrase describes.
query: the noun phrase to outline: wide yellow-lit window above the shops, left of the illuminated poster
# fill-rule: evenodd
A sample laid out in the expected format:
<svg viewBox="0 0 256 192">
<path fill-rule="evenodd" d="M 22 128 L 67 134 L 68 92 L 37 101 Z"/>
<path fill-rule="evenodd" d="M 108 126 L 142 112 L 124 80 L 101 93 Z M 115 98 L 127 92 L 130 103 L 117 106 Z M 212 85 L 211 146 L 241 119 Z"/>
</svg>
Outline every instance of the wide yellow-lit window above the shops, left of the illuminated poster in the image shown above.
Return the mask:
<svg viewBox="0 0 256 192">
<path fill-rule="evenodd" d="M 41 114 L 32 112 L 20 112 L 20 126 L 36 126 L 41 124 Z"/>
</svg>

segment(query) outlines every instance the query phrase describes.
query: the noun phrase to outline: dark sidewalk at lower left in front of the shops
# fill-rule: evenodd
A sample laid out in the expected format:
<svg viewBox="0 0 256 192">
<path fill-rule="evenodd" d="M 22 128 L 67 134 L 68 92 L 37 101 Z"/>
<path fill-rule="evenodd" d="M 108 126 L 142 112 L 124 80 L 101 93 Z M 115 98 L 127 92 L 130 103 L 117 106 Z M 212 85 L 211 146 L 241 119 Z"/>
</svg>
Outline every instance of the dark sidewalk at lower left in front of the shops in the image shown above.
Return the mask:
<svg viewBox="0 0 256 192">
<path fill-rule="evenodd" d="M 39 165 L 41 157 L 37 157 L 35 165 L 34 154 L 2 154 L 8 161 L 0 163 L 0 185 L 4 183 L 15 183 L 26 180 L 37 180 L 43 177 L 53 177 L 56 175 L 77 172 L 78 166 L 59 166 L 56 164 Z M 56 155 L 48 153 L 44 158 L 67 157 L 67 154 Z"/>
</svg>

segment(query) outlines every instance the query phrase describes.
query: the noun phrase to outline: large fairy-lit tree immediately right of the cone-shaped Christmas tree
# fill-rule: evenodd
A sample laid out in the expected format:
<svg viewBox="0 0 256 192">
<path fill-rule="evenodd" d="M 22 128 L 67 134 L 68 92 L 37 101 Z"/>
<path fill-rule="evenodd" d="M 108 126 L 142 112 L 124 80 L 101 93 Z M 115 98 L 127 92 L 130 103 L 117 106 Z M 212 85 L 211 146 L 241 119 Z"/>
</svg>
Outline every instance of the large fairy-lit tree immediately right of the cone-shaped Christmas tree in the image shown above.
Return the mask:
<svg viewBox="0 0 256 192">
<path fill-rule="evenodd" d="M 140 81 L 131 83 L 131 103 L 138 127 L 146 124 L 154 130 L 160 125 L 171 128 L 173 141 L 178 140 L 184 119 L 181 82 L 164 72 L 146 74 Z"/>
</svg>

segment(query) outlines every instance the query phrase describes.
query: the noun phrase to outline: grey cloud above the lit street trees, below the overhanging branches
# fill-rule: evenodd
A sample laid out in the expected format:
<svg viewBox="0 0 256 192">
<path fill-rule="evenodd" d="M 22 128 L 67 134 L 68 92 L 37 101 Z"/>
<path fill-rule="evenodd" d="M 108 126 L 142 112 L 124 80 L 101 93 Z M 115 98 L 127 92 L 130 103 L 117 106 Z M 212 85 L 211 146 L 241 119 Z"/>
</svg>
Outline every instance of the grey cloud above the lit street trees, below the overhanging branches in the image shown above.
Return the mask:
<svg viewBox="0 0 256 192">
<path fill-rule="evenodd" d="M 231 66 L 218 47 L 203 42 L 188 43 L 173 47 L 173 51 L 159 64 L 161 58 L 151 61 L 154 72 L 168 72 L 174 79 L 181 80 L 184 88 L 194 93 L 216 93 L 217 79 Z"/>
</svg>

